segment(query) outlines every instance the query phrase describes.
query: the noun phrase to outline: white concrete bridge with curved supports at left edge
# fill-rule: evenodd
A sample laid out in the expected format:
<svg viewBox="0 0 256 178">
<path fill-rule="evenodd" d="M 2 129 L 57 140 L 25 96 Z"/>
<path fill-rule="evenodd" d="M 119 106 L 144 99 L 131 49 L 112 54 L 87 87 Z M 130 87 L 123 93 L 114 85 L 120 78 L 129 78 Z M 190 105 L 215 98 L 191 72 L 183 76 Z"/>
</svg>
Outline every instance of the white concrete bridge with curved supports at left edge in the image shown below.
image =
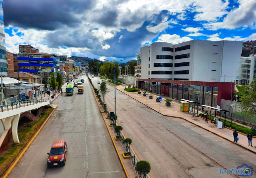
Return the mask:
<svg viewBox="0 0 256 178">
<path fill-rule="evenodd" d="M 45 106 L 51 106 L 51 101 L 48 99 L 42 100 L 19 100 L 9 103 L 1 103 L 0 105 L 0 153 L 5 149 L 5 144 L 12 133 L 14 143 L 19 143 L 17 128 L 18 121 L 22 117 L 27 117 L 34 121 L 42 112 Z M 32 110 L 37 110 L 36 115 L 31 113 Z"/>
</svg>

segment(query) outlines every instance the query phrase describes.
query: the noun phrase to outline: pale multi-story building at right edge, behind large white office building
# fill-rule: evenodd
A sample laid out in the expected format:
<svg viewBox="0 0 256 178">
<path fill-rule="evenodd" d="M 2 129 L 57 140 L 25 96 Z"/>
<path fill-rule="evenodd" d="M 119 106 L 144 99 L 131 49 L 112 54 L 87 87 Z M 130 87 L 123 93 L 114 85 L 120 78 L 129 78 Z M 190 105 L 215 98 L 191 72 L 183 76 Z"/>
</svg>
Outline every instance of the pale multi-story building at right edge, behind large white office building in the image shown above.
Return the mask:
<svg viewBox="0 0 256 178">
<path fill-rule="evenodd" d="M 246 85 L 256 76 L 256 55 L 251 54 L 249 57 L 242 57 L 238 62 L 236 71 L 235 84 Z"/>
</svg>

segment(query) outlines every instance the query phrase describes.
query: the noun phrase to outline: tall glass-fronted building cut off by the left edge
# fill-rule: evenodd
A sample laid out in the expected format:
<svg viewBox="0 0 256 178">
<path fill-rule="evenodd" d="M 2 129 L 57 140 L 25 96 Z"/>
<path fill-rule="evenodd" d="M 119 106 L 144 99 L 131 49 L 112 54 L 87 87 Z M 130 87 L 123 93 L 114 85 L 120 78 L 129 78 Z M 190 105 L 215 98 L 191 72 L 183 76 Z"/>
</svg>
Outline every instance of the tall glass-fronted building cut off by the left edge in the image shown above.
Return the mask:
<svg viewBox="0 0 256 178">
<path fill-rule="evenodd" d="M 6 48 L 5 48 L 2 0 L 0 0 L 0 72 L 2 73 L 2 75 L 7 75 L 7 60 L 6 60 Z"/>
</svg>

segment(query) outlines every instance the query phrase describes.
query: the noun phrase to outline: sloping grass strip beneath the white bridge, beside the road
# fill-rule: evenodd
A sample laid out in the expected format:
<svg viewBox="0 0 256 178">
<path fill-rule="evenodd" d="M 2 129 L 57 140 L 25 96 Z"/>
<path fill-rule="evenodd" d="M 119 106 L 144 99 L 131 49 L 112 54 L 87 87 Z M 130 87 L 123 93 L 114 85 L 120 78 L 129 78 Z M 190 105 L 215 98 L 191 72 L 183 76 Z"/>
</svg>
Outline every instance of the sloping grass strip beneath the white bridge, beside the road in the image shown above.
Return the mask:
<svg viewBox="0 0 256 178">
<path fill-rule="evenodd" d="M 16 159 L 19 153 L 25 148 L 27 143 L 37 132 L 39 127 L 45 121 L 45 119 L 50 115 L 54 108 L 49 108 L 44 110 L 38 121 L 30 122 L 29 124 L 22 125 L 21 120 L 20 125 L 18 125 L 18 139 L 19 144 L 15 144 L 10 136 L 8 144 L 5 151 L 0 155 L 0 177 L 7 171 L 12 162 Z"/>
</svg>

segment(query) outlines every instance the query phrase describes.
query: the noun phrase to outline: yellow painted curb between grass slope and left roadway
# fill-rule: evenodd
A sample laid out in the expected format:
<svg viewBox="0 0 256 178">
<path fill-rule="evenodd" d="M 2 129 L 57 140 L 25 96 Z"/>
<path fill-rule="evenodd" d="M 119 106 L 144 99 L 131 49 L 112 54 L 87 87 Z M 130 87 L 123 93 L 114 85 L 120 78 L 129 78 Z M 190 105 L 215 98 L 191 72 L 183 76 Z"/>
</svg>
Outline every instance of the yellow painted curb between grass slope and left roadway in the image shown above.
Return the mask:
<svg viewBox="0 0 256 178">
<path fill-rule="evenodd" d="M 56 108 L 58 107 L 58 105 L 56 106 Z M 55 109 L 53 109 L 53 111 L 50 113 L 50 115 L 47 117 L 47 119 L 43 122 L 43 124 L 41 125 L 41 127 L 38 129 L 38 131 L 34 134 L 34 136 L 32 137 L 32 139 L 28 142 L 28 144 L 26 145 L 26 147 L 23 149 L 23 151 L 19 154 L 19 156 L 16 158 L 16 160 L 13 162 L 13 164 L 11 165 L 11 167 L 7 170 L 7 172 L 5 173 L 5 175 L 2 178 L 6 178 L 11 171 L 13 170 L 13 168 L 16 166 L 16 164 L 18 163 L 18 161 L 20 160 L 20 158 L 23 156 L 23 154 L 25 153 L 25 151 L 28 149 L 28 147 L 31 145 L 31 143 L 33 142 L 33 140 L 35 139 L 35 137 L 38 135 L 38 133 L 40 132 L 40 130 L 42 129 L 42 127 L 45 125 L 45 123 L 48 121 L 49 117 L 51 116 L 51 114 L 55 111 Z"/>
</svg>

